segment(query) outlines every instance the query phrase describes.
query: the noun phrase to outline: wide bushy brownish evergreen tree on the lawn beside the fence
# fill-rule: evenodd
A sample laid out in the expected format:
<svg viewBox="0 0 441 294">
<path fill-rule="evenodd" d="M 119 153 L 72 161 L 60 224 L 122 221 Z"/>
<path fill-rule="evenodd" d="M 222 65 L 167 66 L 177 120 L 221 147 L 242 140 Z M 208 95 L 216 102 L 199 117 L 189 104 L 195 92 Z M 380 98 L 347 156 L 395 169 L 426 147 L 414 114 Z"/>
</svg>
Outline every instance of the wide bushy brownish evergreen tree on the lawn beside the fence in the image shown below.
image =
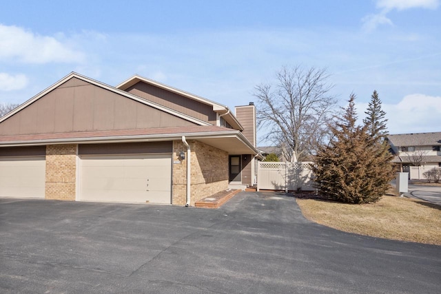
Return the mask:
<svg viewBox="0 0 441 294">
<path fill-rule="evenodd" d="M 376 202 L 393 178 L 391 155 L 369 124 L 356 125 L 355 95 L 351 94 L 345 114 L 331 126 L 333 139 L 315 157 L 316 183 L 330 200 L 348 203 Z"/>
</svg>

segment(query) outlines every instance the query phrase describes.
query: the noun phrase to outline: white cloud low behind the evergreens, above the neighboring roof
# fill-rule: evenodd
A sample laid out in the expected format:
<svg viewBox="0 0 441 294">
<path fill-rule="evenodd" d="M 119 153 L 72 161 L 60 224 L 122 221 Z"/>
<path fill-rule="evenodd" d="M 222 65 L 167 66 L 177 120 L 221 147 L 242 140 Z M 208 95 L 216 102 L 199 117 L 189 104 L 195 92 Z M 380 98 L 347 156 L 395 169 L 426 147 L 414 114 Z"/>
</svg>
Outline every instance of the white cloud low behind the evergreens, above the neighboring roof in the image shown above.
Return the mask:
<svg viewBox="0 0 441 294">
<path fill-rule="evenodd" d="M 365 117 L 367 103 L 357 103 L 358 123 Z M 383 103 L 389 134 L 441 131 L 441 96 L 410 94 L 396 104 Z"/>
</svg>

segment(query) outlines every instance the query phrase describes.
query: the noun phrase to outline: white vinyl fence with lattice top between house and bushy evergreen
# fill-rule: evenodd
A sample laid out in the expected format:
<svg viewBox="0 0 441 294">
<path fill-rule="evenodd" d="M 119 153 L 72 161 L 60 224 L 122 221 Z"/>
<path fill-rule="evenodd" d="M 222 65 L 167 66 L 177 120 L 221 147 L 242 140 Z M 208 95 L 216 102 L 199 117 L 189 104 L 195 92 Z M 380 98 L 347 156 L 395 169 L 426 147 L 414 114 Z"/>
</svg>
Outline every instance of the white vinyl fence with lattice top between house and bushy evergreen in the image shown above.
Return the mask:
<svg viewBox="0 0 441 294">
<path fill-rule="evenodd" d="M 313 162 L 258 162 L 257 191 L 314 191 Z"/>
</svg>

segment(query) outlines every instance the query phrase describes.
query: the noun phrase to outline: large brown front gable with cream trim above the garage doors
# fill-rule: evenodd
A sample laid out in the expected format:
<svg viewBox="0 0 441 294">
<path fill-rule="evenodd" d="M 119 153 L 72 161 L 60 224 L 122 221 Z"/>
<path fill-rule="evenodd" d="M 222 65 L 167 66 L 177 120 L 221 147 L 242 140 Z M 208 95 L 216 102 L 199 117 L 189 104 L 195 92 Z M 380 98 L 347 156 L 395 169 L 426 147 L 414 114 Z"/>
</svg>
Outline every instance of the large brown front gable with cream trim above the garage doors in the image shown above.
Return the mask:
<svg viewBox="0 0 441 294">
<path fill-rule="evenodd" d="M 211 125 L 72 72 L 0 118 L 0 135 Z"/>
</svg>

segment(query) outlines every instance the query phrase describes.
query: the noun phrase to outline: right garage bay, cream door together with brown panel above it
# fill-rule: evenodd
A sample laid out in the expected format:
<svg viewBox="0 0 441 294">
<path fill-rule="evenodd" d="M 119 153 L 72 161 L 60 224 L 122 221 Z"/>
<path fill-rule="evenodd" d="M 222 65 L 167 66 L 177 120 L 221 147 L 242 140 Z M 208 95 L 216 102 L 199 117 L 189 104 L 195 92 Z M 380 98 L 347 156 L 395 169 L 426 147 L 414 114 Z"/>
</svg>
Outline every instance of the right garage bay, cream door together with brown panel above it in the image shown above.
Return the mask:
<svg viewBox="0 0 441 294">
<path fill-rule="evenodd" d="M 80 145 L 78 200 L 171 204 L 171 149 L 170 142 Z"/>
</svg>

